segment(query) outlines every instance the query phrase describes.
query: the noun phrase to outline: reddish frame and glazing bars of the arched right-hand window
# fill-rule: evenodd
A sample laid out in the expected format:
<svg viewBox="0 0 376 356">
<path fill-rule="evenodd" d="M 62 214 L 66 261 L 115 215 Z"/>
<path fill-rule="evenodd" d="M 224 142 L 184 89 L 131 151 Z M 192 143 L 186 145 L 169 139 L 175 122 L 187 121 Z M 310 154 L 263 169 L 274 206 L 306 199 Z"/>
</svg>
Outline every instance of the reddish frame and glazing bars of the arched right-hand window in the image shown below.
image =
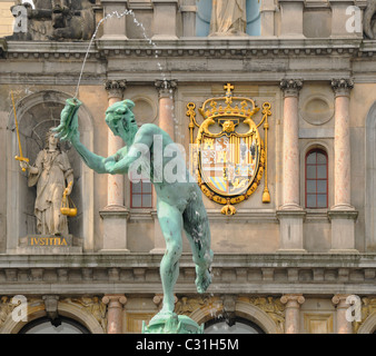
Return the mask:
<svg viewBox="0 0 376 356">
<path fill-rule="evenodd" d="M 321 154 L 321 155 L 325 156 L 325 159 L 326 159 L 326 164 L 325 164 L 325 166 L 326 166 L 326 178 L 317 178 L 317 167 L 324 166 L 324 164 L 317 164 L 317 155 L 316 155 L 315 165 L 307 164 L 307 159 L 308 159 L 309 155 L 311 155 L 311 154 Z M 316 178 L 308 178 L 308 176 L 307 176 L 307 167 L 308 166 L 315 166 L 316 167 Z M 316 182 L 316 192 L 315 194 L 308 194 L 307 192 L 308 180 L 314 180 Z M 324 195 L 324 192 L 318 192 L 317 181 L 324 181 L 324 180 L 326 180 L 326 190 L 325 190 L 326 205 L 325 205 L 325 207 L 319 207 L 318 204 L 317 204 L 317 197 L 318 197 L 318 195 Z M 305 207 L 307 209 L 328 209 L 328 207 L 329 207 L 329 158 L 328 158 L 328 154 L 325 149 L 315 147 L 315 148 L 311 148 L 307 151 L 306 157 L 305 157 L 305 182 L 304 184 L 305 184 Z M 316 198 L 315 207 L 308 206 L 308 195 L 315 196 L 315 198 Z"/>
</svg>

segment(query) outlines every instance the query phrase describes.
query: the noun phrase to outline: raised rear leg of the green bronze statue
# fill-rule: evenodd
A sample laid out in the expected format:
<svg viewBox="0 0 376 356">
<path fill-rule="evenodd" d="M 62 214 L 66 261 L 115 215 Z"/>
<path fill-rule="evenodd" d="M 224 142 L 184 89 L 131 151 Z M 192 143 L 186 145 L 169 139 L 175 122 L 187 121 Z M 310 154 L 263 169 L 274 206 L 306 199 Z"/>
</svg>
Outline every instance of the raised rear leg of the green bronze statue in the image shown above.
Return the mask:
<svg viewBox="0 0 376 356">
<path fill-rule="evenodd" d="M 184 229 L 192 250 L 196 264 L 196 287 L 198 293 L 205 293 L 211 283 L 210 267 L 212 250 L 210 248 L 210 227 L 201 197 L 190 201 L 182 214 Z"/>
</svg>

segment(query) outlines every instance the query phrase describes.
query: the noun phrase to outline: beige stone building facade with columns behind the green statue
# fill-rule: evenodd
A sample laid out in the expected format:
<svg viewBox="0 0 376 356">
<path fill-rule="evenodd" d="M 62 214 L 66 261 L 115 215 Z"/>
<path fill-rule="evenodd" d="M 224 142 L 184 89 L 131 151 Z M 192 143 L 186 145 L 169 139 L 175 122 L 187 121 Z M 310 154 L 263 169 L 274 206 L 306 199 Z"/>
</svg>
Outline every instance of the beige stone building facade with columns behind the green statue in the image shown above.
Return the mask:
<svg viewBox="0 0 376 356">
<path fill-rule="evenodd" d="M 67 39 L 0 39 L 6 166 L 0 171 L 0 333 L 16 334 L 29 322 L 57 315 L 90 333 L 140 333 L 142 320 L 161 307 L 165 246 L 155 195 L 151 208 L 133 208 L 128 177 L 93 174 L 69 146 L 78 207 L 69 220 L 72 243 L 26 243 L 36 236 L 34 191 L 13 159 L 19 151 L 10 92 L 23 155 L 33 161 L 38 128 L 59 119 L 85 60 L 81 140 L 101 156 L 121 147 L 103 120 L 107 107 L 121 99 L 135 101 L 140 125 L 159 125 L 186 151 L 189 102 L 198 108 L 231 83 L 234 95 L 270 103 L 270 202 L 263 202 L 264 178 L 234 216 L 204 196 L 215 253 L 212 285 L 202 296 L 196 293 L 185 240 L 175 290 L 178 314 L 199 324 L 220 316 L 247 320 L 269 334 L 375 333 L 376 42 L 350 21 L 353 12 L 346 13 L 356 6 L 362 18 L 367 2 L 263 0 L 253 22 L 256 34 L 247 27 L 241 37 L 204 36 L 198 30 L 202 3 L 97 0 L 97 23 L 113 11 L 131 13 L 108 17 L 90 48 L 89 41 Z M 255 120 L 260 118 L 261 110 Z M 327 156 L 325 208 L 306 205 L 306 157 L 313 149 Z M 18 295 L 28 300 L 27 322 L 12 317 Z M 348 320 L 352 296 L 359 297 L 360 318 Z"/>
</svg>

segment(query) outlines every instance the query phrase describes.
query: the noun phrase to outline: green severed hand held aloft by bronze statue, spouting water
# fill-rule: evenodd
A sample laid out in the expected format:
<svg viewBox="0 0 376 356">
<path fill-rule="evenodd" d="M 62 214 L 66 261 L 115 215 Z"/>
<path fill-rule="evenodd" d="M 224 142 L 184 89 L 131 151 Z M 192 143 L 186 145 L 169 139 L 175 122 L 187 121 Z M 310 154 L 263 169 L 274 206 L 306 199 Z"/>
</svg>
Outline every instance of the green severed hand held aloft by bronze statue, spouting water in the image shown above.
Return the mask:
<svg viewBox="0 0 376 356">
<path fill-rule="evenodd" d="M 79 138 L 78 131 L 78 109 L 82 102 L 76 98 L 67 99 L 66 107 L 62 109 L 60 115 L 60 125 L 53 128 L 56 137 L 62 141 L 72 141 L 72 139 Z"/>
</svg>

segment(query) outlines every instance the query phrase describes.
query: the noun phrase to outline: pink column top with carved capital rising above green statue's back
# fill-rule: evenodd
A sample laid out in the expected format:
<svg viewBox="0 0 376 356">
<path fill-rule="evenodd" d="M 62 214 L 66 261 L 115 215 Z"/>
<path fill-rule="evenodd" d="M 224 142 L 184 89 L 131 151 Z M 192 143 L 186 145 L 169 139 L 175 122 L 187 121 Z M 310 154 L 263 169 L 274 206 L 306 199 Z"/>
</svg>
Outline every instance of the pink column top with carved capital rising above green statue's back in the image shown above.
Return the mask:
<svg viewBox="0 0 376 356">
<path fill-rule="evenodd" d="M 156 80 L 156 88 L 159 95 L 159 127 L 164 129 L 174 140 L 175 122 L 174 122 L 174 92 L 177 88 L 176 80 Z"/>
</svg>

